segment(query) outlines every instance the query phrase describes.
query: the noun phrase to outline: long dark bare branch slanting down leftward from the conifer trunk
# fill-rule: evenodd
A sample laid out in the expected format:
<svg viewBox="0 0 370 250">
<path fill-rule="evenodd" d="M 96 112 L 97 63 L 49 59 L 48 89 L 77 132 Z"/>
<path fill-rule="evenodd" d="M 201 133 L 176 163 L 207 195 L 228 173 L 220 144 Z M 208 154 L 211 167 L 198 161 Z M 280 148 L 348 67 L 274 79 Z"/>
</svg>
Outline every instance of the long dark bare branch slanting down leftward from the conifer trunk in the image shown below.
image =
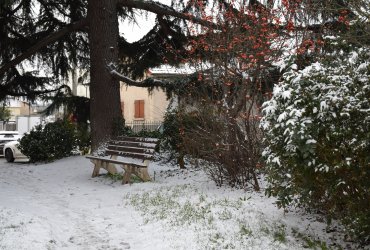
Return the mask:
<svg viewBox="0 0 370 250">
<path fill-rule="evenodd" d="M 83 20 L 80 20 L 80 21 L 75 22 L 73 24 L 67 25 L 63 29 L 46 36 L 45 38 L 41 39 L 36 44 L 31 46 L 26 52 L 22 53 L 21 55 L 17 56 L 16 58 L 11 60 L 10 62 L 3 65 L 0 68 L 0 76 L 3 75 L 5 72 L 7 72 L 12 67 L 16 66 L 17 64 L 21 63 L 25 59 L 29 58 L 30 56 L 32 56 L 33 54 L 38 52 L 41 48 L 57 41 L 61 37 L 73 32 L 73 31 L 82 29 L 83 27 L 87 26 L 87 24 L 88 24 L 87 20 L 83 19 Z"/>
</svg>

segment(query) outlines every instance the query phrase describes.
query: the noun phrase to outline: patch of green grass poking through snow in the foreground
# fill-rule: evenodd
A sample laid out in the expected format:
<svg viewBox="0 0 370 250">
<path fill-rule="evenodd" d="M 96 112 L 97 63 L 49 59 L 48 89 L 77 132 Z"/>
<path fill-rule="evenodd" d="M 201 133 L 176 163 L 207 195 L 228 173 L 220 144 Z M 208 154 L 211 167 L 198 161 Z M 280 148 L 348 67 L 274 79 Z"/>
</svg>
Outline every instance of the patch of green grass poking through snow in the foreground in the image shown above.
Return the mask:
<svg viewBox="0 0 370 250">
<path fill-rule="evenodd" d="M 287 226 L 281 221 L 271 221 L 263 212 L 251 209 L 249 199 L 215 198 L 190 184 L 125 195 L 126 204 L 141 212 L 145 224 L 161 221 L 169 231 L 190 231 L 200 249 L 245 249 L 259 246 L 261 239 L 267 240 L 265 245 L 271 249 L 300 244 L 288 238 Z M 309 248 L 328 249 L 325 243 L 298 238 Z"/>
</svg>

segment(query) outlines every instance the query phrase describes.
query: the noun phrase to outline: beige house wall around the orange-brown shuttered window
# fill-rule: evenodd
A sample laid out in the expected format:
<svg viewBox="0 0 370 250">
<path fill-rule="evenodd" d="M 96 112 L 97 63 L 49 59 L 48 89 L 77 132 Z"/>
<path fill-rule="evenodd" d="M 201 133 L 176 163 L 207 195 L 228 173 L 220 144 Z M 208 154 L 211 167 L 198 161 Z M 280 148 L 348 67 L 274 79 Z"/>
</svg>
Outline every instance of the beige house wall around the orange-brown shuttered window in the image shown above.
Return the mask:
<svg viewBox="0 0 370 250">
<path fill-rule="evenodd" d="M 144 100 L 144 119 L 135 119 L 135 100 Z M 124 118 L 126 122 L 134 120 L 163 121 L 169 100 L 160 89 L 154 89 L 151 94 L 147 88 L 128 87 L 121 84 L 121 102 L 124 102 Z"/>
</svg>

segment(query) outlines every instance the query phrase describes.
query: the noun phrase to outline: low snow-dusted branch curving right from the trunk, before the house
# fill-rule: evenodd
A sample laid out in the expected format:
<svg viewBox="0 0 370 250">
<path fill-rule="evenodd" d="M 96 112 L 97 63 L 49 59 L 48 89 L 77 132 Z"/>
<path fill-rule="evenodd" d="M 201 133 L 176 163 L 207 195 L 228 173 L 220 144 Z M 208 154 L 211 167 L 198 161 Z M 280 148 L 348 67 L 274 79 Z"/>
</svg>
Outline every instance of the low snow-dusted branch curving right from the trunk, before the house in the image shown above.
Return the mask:
<svg viewBox="0 0 370 250">
<path fill-rule="evenodd" d="M 165 81 L 165 80 L 158 80 L 154 78 L 147 78 L 142 81 L 135 81 L 127 76 L 122 75 L 116 70 L 116 67 L 113 63 L 109 63 L 107 65 L 107 69 L 109 70 L 109 73 L 117 80 L 122 81 L 126 83 L 129 86 L 135 86 L 135 87 L 143 87 L 143 88 L 151 88 L 151 87 L 161 87 L 161 88 L 170 88 L 172 87 L 172 83 Z"/>
</svg>

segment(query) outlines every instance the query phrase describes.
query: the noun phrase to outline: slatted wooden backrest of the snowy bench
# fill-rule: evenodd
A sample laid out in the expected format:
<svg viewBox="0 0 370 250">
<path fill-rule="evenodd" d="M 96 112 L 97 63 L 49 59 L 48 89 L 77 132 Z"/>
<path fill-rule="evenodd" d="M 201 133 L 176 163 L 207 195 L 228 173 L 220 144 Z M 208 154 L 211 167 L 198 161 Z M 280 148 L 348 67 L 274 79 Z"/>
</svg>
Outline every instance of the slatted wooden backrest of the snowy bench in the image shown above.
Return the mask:
<svg viewBox="0 0 370 250">
<path fill-rule="evenodd" d="M 125 156 L 141 160 L 153 159 L 158 139 L 119 136 L 108 143 L 106 155 Z"/>
</svg>

